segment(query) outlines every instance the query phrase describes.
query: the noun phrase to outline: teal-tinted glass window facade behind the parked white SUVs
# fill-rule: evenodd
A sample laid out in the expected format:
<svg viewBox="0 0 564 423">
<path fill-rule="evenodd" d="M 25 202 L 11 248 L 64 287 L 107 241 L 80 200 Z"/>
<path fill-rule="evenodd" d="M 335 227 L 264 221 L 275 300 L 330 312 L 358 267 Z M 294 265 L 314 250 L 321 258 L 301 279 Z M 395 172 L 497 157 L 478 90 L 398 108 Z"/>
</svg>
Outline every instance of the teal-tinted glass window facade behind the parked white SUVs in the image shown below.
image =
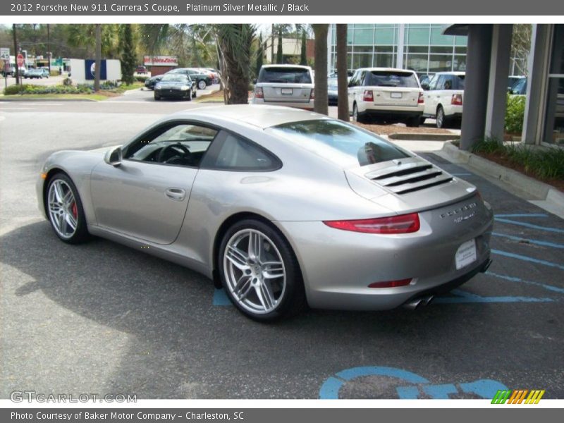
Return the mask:
<svg viewBox="0 0 564 423">
<path fill-rule="evenodd" d="M 421 73 L 465 71 L 467 37 L 442 35 L 443 25 L 350 24 L 348 68 L 399 67 Z M 336 27 L 331 25 L 331 69 L 336 68 Z M 400 55 L 398 63 L 398 51 Z"/>
</svg>

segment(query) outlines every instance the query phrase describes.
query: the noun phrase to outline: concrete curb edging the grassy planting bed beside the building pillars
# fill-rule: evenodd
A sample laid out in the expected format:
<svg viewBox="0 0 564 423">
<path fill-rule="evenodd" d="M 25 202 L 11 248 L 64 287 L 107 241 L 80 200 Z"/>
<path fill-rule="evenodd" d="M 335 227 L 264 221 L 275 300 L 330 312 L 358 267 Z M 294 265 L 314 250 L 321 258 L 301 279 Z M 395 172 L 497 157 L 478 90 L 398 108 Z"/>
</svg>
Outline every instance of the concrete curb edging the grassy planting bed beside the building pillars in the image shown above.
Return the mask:
<svg viewBox="0 0 564 423">
<path fill-rule="evenodd" d="M 479 157 L 476 154 L 460 150 L 458 147 L 450 144 L 449 142 L 446 142 L 445 145 L 443 145 L 441 152 L 455 164 L 467 164 L 468 166 L 476 168 L 478 171 L 491 176 L 491 178 L 501 180 L 503 183 L 506 183 L 517 190 L 525 191 L 531 197 L 551 202 L 551 204 L 554 204 L 556 207 L 564 208 L 564 192 L 560 192 L 560 190 L 553 188 L 552 185 L 530 178 L 529 176 L 523 175 L 513 169 L 494 163 L 494 161 L 489 161 L 488 159 Z"/>
</svg>

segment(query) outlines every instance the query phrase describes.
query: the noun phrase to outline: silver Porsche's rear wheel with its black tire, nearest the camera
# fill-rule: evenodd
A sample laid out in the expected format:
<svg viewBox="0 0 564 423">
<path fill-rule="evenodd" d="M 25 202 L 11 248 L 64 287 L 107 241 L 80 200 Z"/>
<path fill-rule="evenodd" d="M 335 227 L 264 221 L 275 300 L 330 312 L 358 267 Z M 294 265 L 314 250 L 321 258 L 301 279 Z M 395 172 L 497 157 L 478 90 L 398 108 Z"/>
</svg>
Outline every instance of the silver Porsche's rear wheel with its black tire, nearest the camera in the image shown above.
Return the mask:
<svg viewBox="0 0 564 423">
<path fill-rule="evenodd" d="M 302 275 L 288 241 L 255 219 L 235 223 L 219 247 L 219 274 L 231 302 L 258 321 L 272 321 L 305 307 Z"/>
</svg>

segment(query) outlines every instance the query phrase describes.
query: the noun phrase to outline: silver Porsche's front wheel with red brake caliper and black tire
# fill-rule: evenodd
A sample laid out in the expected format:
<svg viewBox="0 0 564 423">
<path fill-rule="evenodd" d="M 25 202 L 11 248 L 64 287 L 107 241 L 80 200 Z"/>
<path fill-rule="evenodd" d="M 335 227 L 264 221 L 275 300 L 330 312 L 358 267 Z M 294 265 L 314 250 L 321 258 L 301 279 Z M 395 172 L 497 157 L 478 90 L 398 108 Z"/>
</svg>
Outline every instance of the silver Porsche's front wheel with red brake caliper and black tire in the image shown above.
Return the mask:
<svg viewBox="0 0 564 423">
<path fill-rule="evenodd" d="M 88 238 L 82 202 L 75 184 L 65 173 L 57 173 L 47 188 L 47 216 L 56 235 L 76 244 Z"/>
</svg>

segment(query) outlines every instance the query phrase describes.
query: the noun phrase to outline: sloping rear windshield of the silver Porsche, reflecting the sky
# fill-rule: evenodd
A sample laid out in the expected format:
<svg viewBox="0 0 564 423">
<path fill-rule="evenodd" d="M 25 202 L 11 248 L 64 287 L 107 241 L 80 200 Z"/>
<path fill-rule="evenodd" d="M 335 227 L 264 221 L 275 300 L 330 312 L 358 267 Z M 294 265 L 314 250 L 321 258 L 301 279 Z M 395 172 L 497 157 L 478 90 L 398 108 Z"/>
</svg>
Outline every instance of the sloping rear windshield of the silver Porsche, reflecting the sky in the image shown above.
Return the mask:
<svg viewBox="0 0 564 423">
<path fill-rule="evenodd" d="M 376 135 L 332 119 L 283 123 L 266 131 L 341 166 L 366 166 L 410 157 Z"/>
</svg>

